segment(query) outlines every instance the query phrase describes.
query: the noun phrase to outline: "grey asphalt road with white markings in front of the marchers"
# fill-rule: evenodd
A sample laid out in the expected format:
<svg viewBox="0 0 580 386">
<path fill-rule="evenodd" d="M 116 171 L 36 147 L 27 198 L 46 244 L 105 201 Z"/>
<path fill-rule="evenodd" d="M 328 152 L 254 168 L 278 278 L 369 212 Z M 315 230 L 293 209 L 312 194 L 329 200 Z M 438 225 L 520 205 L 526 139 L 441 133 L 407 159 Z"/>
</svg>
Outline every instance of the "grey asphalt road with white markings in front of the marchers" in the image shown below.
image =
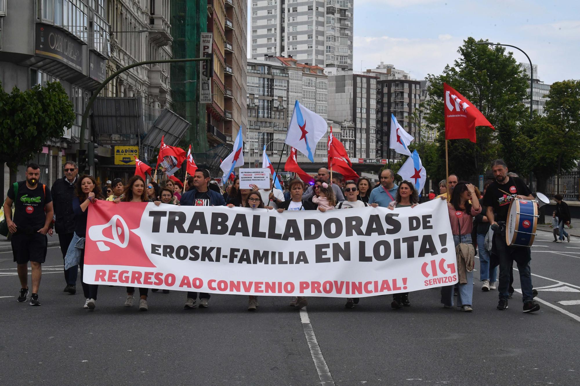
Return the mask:
<svg viewBox="0 0 580 386">
<path fill-rule="evenodd" d="M 58 247 L 43 267 L 42 306 L 31 307 L 16 302 L 16 265 L 0 253 L 0 385 L 578 385 L 580 238 L 551 240 L 542 233 L 533 248 L 535 314 L 521 312 L 519 293 L 497 311 L 497 291 L 478 281 L 471 314 L 444 309 L 438 289 L 411 293 L 412 307 L 397 311 L 390 296 L 354 309 L 310 298 L 303 312 L 264 296 L 248 312 L 247 297 L 227 295 L 184 310 L 172 291 L 151 293 L 140 312 L 108 286 L 88 311 L 80 281 L 74 296 L 62 292 Z"/>
</svg>

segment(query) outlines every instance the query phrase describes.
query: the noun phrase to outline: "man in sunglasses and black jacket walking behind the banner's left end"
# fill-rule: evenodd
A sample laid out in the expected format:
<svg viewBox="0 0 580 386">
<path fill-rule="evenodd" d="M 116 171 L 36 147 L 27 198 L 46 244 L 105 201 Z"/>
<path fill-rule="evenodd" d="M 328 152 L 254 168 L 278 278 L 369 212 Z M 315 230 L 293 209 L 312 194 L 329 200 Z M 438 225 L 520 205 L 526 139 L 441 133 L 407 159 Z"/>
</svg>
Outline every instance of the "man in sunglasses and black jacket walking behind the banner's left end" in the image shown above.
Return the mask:
<svg viewBox="0 0 580 386">
<path fill-rule="evenodd" d="M 59 234 L 60 251 L 64 256 L 67 254 L 68 245 L 74 234 L 73 198 L 77 183 L 78 166 L 73 161 L 64 164 L 64 177 L 55 181 L 50 189 L 52 202 L 55 208 L 55 231 Z M 64 292 L 71 295 L 77 292 L 78 265 L 64 270 L 64 280 L 67 286 Z"/>
</svg>

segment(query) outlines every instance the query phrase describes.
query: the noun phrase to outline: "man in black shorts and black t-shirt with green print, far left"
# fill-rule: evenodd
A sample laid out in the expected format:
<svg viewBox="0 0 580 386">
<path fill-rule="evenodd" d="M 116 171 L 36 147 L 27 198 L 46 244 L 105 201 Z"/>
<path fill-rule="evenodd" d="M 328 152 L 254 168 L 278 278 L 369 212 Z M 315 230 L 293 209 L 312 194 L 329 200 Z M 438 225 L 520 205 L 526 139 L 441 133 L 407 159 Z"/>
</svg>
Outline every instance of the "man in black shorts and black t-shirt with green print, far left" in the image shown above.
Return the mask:
<svg viewBox="0 0 580 386">
<path fill-rule="evenodd" d="M 40 167 L 30 163 L 26 167 L 26 181 L 17 184 L 16 195 L 14 187 L 8 190 L 8 198 L 4 202 L 6 225 L 12 233 L 12 253 L 17 264 L 20 279 L 20 294 L 18 301 L 26 301 L 28 294 L 28 261 L 32 268 L 32 295 L 30 305 L 40 305 L 38 287 L 41 279 L 41 264 L 46 259 L 46 234 L 52 222 L 52 196 L 50 189 L 39 184 Z M 12 214 L 14 203 L 14 218 Z"/>
</svg>

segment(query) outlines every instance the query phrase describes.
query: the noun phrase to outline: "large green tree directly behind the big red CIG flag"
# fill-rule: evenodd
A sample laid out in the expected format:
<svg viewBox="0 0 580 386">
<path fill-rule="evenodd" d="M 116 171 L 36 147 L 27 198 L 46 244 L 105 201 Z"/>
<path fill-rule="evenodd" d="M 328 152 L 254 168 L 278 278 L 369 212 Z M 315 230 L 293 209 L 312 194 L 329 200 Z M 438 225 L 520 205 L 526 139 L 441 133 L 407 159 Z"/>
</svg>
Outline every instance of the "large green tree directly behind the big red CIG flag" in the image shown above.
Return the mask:
<svg viewBox="0 0 580 386">
<path fill-rule="evenodd" d="M 481 40 L 480 40 L 481 42 Z M 521 159 L 521 149 L 504 147 L 503 139 L 514 136 L 516 122 L 525 119 L 524 98 L 527 96 L 527 80 L 524 71 L 505 48 L 478 45 L 474 38 L 467 38 L 459 47 L 460 57 L 453 67 L 445 66 L 443 74 L 429 75 L 428 88 L 432 96 L 426 101 L 426 122 L 437 128 L 438 159 L 436 176 L 445 176 L 445 118 L 443 115 L 443 83 L 458 90 L 495 126 L 477 128 L 477 143 L 469 140 L 448 141 L 449 173 L 461 179 L 483 174 L 492 159 L 501 155 L 508 158 L 512 153 Z M 516 133 L 515 137 L 519 137 Z M 506 141 L 507 143 L 507 141 Z"/>
</svg>

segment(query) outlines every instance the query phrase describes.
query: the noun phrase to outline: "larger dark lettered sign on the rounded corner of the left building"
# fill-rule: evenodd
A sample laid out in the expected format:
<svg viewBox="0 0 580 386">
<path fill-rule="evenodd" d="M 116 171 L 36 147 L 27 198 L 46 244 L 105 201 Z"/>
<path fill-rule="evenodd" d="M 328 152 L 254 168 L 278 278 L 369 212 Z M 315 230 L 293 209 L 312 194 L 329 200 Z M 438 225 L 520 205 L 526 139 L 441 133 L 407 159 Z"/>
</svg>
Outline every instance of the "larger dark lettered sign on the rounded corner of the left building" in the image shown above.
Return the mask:
<svg viewBox="0 0 580 386">
<path fill-rule="evenodd" d="M 82 72 L 82 44 L 66 32 L 46 24 L 37 24 L 36 54 L 61 61 Z"/>
</svg>

